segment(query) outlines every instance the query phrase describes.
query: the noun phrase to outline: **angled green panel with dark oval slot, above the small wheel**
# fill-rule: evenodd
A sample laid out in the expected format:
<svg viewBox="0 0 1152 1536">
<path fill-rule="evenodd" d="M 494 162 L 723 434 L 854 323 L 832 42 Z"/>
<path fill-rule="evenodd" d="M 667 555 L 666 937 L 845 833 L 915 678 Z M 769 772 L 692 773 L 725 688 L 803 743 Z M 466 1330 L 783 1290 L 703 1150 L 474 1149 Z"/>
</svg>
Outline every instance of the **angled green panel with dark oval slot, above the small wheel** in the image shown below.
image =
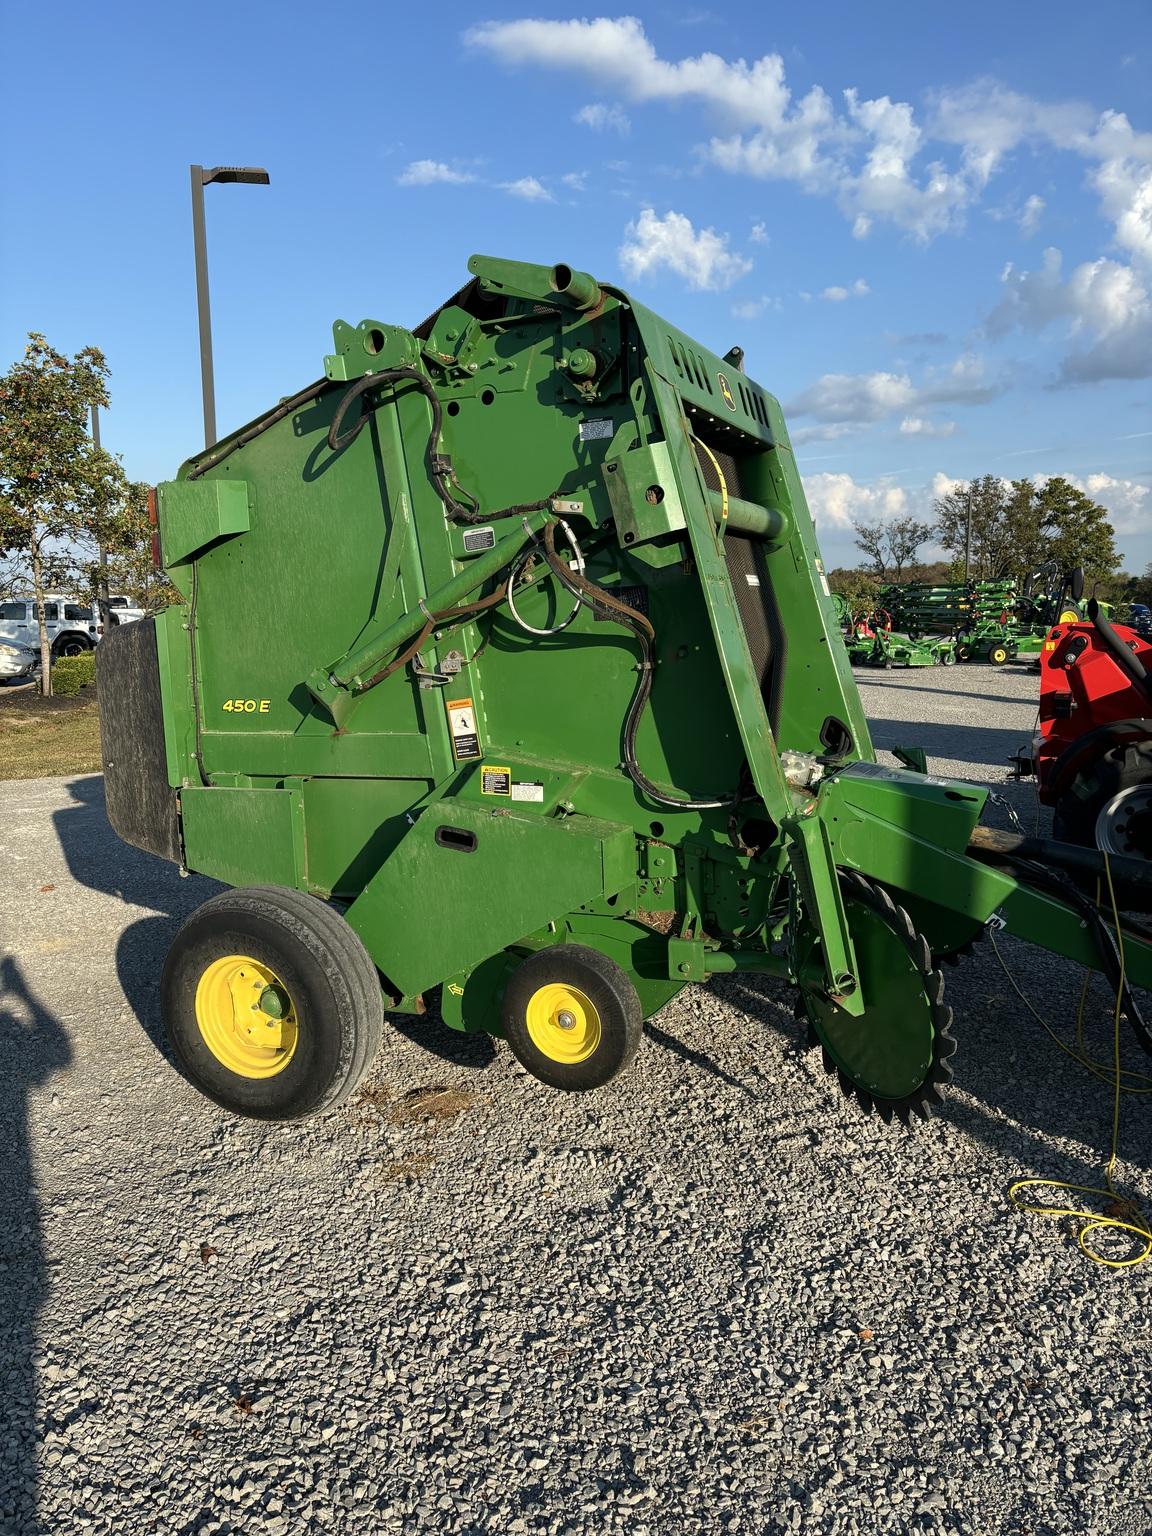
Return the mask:
<svg viewBox="0 0 1152 1536">
<path fill-rule="evenodd" d="M 404 994 L 485 960 L 636 876 L 630 828 L 464 802 L 430 806 L 347 911 Z"/>
</svg>

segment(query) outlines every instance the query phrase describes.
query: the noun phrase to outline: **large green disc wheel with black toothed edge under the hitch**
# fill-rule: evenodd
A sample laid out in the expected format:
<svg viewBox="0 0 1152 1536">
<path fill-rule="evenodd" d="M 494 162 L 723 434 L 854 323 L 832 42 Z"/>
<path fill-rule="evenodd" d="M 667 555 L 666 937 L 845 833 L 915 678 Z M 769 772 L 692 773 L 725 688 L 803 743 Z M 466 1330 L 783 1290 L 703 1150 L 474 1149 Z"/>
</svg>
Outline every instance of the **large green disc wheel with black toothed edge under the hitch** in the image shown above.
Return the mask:
<svg viewBox="0 0 1152 1536">
<path fill-rule="evenodd" d="M 862 1015 L 837 1006 L 808 978 L 820 969 L 820 935 L 802 919 L 796 943 L 800 985 L 797 1012 L 820 1044 L 826 1072 L 836 1072 L 845 1098 L 871 1115 L 928 1120 L 951 1081 L 952 1009 L 945 978 L 928 942 L 883 886 L 840 871 L 840 891 L 865 1000 Z"/>
</svg>

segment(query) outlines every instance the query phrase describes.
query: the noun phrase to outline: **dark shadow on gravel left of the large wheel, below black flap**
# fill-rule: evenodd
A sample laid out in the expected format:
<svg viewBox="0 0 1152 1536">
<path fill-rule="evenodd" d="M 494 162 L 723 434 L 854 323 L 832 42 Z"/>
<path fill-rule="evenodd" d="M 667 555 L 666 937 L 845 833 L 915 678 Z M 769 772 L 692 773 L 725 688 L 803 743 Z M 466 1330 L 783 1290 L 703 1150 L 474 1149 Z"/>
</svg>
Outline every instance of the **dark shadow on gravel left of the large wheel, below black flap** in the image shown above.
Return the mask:
<svg viewBox="0 0 1152 1536">
<path fill-rule="evenodd" d="M 54 816 L 60 848 L 74 880 L 127 906 L 152 908 L 155 917 L 131 923 L 117 943 L 117 975 L 129 1008 L 152 1044 L 170 1061 L 160 1025 L 160 972 L 180 925 L 223 886 L 203 876 L 181 877 L 166 859 L 121 842 L 104 813 L 100 774 L 74 779 L 74 805 Z"/>
</svg>

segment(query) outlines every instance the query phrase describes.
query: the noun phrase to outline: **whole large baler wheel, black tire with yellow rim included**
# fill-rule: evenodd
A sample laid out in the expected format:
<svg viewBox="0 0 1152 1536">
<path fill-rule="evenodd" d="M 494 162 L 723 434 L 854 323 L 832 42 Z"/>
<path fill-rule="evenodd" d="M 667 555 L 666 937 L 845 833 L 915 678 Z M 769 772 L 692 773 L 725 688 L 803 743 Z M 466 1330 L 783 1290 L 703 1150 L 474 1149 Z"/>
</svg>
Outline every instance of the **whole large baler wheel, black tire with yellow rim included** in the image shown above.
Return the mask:
<svg viewBox="0 0 1152 1536">
<path fill-rule="evenodd" d="M 344 919 L 303 891 L 250 886 L 204 902 L 160 983 L 167 1037 L 201 1094 L 255 1120 L 335 1109 L 379 1046 L 379 974 Z"/>
</svg>

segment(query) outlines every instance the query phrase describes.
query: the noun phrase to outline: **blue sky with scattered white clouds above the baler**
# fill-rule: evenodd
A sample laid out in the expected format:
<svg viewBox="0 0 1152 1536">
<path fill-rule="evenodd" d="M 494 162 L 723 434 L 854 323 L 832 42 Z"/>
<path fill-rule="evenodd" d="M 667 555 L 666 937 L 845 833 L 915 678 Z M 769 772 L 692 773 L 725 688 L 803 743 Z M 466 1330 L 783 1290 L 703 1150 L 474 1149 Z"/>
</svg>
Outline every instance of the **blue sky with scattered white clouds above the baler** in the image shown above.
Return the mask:
<svg viewBox="0 0 1152 1536">
<path fill-rule="evenodd" d="M 473 250 L 622 283 L 785 404 L 831 564 L 952 479 L 1069 475 L 1152 561 L 1152 8 L 0 0 L 0 366 L 101 346 L 104 444 L 200 447 Z M 11 124 L 22 124 L 14 134 Z"/>
</svg>

